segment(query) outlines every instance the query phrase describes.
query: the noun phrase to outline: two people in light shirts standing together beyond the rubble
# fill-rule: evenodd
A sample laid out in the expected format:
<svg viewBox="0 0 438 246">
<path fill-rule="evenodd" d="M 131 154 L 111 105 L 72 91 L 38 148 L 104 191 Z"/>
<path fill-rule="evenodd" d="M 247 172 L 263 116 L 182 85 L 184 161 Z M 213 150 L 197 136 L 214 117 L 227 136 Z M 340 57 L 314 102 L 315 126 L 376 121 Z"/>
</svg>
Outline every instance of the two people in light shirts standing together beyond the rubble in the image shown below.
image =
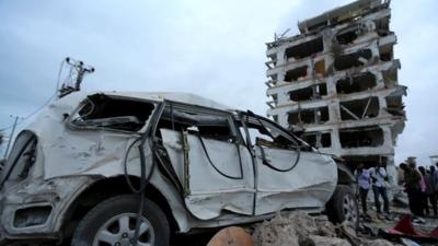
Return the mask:
<svg viewBox="0 0 438 246">
<path fill-rule="evenodd" d="M 378 163 L 376 166 L 370 168 L 365 168 L 364 164 L 359 164 L 356 176 L 364 216 L 368 219 L 370 218 L 368 214 L 367 197 L 369 190 L 372 189 L 378 216 L 384 216 L 389 219 L 390 201 L 387 191 L 387 183 L 389 181 L 389 177 L 382 164 Z M 383 213 L 381 210 L 380 197 L 383 200 Z"/>
</svg>

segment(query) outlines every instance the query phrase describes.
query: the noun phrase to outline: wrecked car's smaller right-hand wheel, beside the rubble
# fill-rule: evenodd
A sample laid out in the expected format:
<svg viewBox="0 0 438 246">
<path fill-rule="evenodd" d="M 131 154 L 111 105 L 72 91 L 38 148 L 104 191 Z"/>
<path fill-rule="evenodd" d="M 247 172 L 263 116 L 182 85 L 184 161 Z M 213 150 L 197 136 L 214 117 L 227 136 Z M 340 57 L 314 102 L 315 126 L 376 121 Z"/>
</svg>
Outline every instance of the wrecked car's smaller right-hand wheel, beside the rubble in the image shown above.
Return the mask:
<svg viewBox="0 0 438 246">
<path fill-rule="evenodd" d="M 336 186 L 332 198 L 326 204 L 326 213 L 332 223 L 338 224 L 348 221 L 358 226 L 359 208 L 350 187 L 346 185 Z"/>
</svg>

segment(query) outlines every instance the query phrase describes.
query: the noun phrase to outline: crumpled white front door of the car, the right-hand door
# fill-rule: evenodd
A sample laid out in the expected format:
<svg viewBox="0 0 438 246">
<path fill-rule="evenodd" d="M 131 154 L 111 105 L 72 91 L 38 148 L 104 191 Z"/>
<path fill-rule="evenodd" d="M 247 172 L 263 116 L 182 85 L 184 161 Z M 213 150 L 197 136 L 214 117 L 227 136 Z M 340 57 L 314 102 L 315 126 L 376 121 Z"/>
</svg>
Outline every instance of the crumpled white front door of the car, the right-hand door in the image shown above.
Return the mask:
<svg viewBox="0 0 438 246">
<path fill-rule="evenodd" d="M 255 214 L 287 208 L 321 209 L 336 186 L 336 164 L 328 155 L 299 144 L 281 127 L 245 115 L 241 132 L 255 155 Z"/>
</svg>

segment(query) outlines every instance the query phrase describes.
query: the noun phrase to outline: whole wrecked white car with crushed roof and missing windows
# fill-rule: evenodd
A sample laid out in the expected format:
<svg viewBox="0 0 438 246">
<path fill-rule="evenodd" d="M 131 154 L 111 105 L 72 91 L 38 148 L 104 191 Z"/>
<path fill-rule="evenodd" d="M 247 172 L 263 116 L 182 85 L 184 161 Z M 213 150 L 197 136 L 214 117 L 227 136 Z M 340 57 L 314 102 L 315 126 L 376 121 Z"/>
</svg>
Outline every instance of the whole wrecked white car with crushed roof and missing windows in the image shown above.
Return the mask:
<svg viewBox="0 0 438 246">
<path fill-rule="evenodd" d="M 1 242 L 165 246 L 279 210 L 357 221 L 350 174 L 269 119 L 193 94 L 72 93 L 15 140 Z"/>
</svg>

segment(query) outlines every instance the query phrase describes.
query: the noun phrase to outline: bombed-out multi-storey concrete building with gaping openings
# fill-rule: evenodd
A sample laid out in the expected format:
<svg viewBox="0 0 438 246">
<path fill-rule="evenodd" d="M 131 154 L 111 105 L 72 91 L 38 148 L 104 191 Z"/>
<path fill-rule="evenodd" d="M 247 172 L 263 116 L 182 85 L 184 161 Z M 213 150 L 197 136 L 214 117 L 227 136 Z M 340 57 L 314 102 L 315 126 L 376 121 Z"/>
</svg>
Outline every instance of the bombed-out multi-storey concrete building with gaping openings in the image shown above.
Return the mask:
<svg viewBox="0 0 438 246">
<path fill-rule="evenodd" d="M 300 34 L 267 43 L 267 115 L 351 168 L 394 168 L 404 129 L 390 30 L 390 1 L 359 0 L 299 22 Z"/>
</svg>

